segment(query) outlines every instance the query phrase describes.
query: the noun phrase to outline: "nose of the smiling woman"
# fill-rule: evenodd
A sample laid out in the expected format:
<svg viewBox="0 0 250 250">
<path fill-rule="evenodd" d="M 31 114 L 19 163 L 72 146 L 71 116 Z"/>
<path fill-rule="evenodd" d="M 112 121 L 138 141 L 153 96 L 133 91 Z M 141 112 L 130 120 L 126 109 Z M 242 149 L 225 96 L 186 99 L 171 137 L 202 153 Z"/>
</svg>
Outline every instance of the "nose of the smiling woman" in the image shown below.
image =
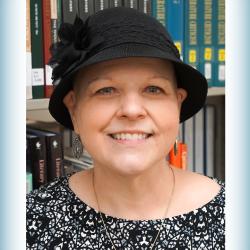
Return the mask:
<svg viewBox="0 0 250 250">
<path fill-rule="evenodd" d="M 136 120 L 144 118 L 146 114 L 143 97 L 139 94 L 130 93 L 121 98 L 119 110 L 117 112 L 119 118 Z"/>
</svg>

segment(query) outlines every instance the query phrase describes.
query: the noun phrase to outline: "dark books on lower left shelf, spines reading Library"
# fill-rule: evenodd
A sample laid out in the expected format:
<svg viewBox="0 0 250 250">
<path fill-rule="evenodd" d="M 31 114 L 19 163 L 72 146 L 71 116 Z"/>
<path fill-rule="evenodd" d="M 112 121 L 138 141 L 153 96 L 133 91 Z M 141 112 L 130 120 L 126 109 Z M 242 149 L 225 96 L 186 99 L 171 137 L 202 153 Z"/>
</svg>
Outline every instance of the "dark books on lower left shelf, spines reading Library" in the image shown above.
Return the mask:
<svg viewBox="0 0 250 250">
<path fill-rule="evenodd" d="M 70 135 L 70 136 L 68 136 Z M 31 122 L 26 129 L 26 191 L 37 189 L 57 177 L 92 167 L 84 150 L 76 160 L 72 156 L 72 132 L 58 125 Z"/>
</svg>

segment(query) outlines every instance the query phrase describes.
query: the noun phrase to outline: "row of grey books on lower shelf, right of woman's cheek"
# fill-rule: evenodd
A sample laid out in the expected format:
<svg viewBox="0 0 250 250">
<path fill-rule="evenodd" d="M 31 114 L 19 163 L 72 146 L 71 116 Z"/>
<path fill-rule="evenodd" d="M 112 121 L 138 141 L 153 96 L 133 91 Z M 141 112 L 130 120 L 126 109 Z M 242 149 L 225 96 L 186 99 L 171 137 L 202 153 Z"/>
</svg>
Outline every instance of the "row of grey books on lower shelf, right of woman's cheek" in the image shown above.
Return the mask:
<svg viewBox="0 0 250 250">
<path fill-rule="evenodd" d="M 205 105 L 195 116 L 180 125 L 179 141 L 186 146 L 185 169 L 216 176 L 216 134 L 218 136 L 215 105 Z"/>
</svg>

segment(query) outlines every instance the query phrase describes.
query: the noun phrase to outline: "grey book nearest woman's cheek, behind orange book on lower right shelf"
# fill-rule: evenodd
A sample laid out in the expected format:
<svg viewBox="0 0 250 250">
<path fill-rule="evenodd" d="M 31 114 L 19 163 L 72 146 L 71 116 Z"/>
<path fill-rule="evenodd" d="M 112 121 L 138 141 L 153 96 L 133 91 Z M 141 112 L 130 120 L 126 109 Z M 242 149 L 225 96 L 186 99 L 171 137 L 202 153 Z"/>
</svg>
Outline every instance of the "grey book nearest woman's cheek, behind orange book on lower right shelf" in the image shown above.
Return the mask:
<svg viewBox="0 0 250 250">
<path fill-rule="evenodd" d="M 191 117 L 184 122 L 184 143 L 187 145 L 187 169 L 194 172 L 194 118 Z"/>
</svg>

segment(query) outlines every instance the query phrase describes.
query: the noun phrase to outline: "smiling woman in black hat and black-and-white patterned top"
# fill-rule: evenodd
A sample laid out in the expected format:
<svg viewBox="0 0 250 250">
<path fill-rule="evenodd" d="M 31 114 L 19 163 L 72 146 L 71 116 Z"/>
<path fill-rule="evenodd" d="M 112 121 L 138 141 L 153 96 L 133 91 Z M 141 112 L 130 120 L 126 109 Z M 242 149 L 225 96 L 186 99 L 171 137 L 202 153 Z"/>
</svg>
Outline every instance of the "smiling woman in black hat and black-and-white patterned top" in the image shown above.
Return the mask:
<svg viewBox="0 0 250 250">
<path fill-rule="evenodd" d="M 28 196 L 30 249 L 224 249 L 224 184 L 166 161 L 207 82 L 165 28 L 112 8 L 64 24 L 49 110 L 93 168 Z"/>
</svg>

